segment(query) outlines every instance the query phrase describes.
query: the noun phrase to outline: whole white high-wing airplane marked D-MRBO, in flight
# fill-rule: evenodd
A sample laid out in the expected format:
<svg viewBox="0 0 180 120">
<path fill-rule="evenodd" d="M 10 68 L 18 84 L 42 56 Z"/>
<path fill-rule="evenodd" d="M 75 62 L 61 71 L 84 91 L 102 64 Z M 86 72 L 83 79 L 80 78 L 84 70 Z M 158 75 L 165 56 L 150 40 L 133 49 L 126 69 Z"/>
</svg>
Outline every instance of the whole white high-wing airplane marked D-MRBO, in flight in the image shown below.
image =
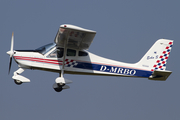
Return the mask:
<svg viewBox="0 0 180 120">
<path fill-rule="evenodd" d="M 25 69 L 36 69 L 59 73 L 53 88 L 60 92 L 68 89 L 72 81 L 65 79 L 64 74 L 103 75 L 120 77 L 142 77 L 149 80 L 165 81 L 172 73 L 166 70 L 167 59 L 172 49 L 173 40 L 159 39 L 134 64 L 110 60 L 87 51 L 96 31 L 74 25 L 63 24 L 58 29 L 54 43 L 35 50 L 13 50 L 14 33 L 12 33 L 9 72 L 12 57 L 19 69 L 12 79 L 17 85 L 30 82 L 22 75 Z"/>
</svg>

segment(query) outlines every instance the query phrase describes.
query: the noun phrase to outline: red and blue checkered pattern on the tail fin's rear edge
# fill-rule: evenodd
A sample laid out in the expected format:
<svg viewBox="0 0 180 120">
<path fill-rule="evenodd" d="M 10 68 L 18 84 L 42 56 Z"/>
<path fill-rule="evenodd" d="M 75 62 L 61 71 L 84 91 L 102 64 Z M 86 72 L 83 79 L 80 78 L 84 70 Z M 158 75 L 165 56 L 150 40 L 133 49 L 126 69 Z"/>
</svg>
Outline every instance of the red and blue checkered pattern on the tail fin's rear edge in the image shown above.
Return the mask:
<svg viewBox="0 0 180 120">
<path fill-rule="evenodd" d="M 169 44 L 167 46 L 165 46 L 164 51 L 162 52 L 162 54 L 160 55 L 160 57 L 158 58 L 158 60 L 156 61 L 156 63 L 153 66 L 154 69 L 151 69 L 151 71 L 166 69 L 167 59 L 171 52 L 172 46 L 173 46 L 173 42 L 169 42 Z"/>
</svg>

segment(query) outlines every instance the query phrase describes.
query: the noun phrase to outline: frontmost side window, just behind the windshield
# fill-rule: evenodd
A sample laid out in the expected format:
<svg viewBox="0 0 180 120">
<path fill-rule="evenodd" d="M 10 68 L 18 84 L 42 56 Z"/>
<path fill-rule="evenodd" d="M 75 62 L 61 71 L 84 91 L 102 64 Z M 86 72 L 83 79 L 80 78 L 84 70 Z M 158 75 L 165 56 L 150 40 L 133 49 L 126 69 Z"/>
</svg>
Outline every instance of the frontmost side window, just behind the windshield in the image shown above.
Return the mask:
<svg viewBox="0 0 180 120">
<path fill-rule="evenodd" d="M 48 57 L 50 58 L 62 58 L 63 57 L 63 52 L 64 52 L 64 49 L 63 48 L 57 48 L 56 50 L 54 50 L 52 53 L 50 53 L 48 55 Z"/>
</svg>

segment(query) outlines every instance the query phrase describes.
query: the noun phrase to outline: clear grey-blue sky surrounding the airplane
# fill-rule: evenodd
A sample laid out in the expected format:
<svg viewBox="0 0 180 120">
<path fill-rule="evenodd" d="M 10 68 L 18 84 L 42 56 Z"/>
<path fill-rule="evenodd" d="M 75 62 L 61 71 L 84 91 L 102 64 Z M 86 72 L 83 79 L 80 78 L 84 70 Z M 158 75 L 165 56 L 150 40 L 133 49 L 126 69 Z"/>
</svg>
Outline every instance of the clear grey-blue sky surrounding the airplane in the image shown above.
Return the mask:
<svg viewBox="0 0 180 120">
<path fill-rule="evenodd" d="M 1 0 L 0 120 L 179 120 L 180 1 L 178 0 Z M 65 75 L 70 89 L 56 93 L 57 73 L 26 70 L 30 83 L 17 86 L 14 49 L 51 43 L 61 24 L 97 31 L 89 51 L 135 63 L 160 38 L 174 40 L 167 81 L 144 78 Z"/>
</svg>

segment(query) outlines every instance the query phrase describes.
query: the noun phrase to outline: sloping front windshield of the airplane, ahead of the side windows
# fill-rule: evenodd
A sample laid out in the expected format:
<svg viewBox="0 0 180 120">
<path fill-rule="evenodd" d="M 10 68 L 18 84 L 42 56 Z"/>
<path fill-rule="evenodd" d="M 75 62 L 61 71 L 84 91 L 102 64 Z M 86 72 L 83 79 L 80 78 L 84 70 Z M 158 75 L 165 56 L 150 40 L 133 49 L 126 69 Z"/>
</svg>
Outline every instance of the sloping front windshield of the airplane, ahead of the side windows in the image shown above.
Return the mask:
<svg viewBox="0 0 180 120">
<path fill-rule="evenodd" d="M 35 51 L 41 53 L 41 54 L 46 54 L 49 50 L 51 50 L 52 48 L 54 48 L 56 46 L 55 43 L 50 43 L 50 44 L 47 44 L 47 45 L 44 45 L 40 48 L 37 48 L 35 49 Z"/>
</svg>

